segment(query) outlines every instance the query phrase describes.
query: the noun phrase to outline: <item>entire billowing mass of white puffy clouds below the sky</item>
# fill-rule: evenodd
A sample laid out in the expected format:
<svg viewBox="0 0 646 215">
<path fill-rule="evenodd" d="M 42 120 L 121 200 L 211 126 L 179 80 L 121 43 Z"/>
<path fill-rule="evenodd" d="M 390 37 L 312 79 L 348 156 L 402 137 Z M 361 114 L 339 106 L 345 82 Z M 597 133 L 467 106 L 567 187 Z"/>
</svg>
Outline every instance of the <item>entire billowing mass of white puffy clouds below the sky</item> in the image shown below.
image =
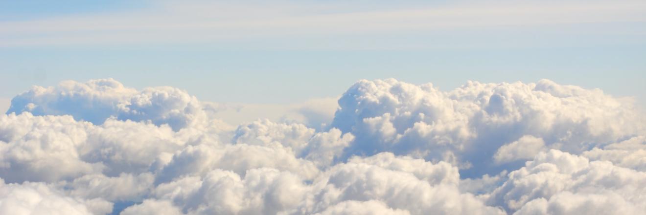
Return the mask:
<svg viewBox="0 0 646 215">
<path fill-rule="evenodd" d="M 0 214 L 646 213 L 645 118 L 601 90 L 363 80 L 331 121 L 213 108 L 113 79 L 33 87 L 0 115 Z"/>
</svg>

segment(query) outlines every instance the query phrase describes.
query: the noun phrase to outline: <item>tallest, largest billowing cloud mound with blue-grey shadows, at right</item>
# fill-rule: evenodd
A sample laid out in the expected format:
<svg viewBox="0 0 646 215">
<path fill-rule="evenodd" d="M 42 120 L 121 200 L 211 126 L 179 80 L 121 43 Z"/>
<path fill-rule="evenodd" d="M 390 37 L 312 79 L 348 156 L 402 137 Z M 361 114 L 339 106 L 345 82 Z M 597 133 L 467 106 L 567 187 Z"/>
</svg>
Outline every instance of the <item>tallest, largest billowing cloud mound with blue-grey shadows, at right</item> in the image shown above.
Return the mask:
<svg viewBox="0 0 646 215">
<path fill-rule="evenodd" d="M 645 130 L 631 101 L 545 79 L 528 84 L 470 81 L 448 92 L 431 84 L 363 80 L 343 94 L 339 105 L 331 126 L 355 136 L 344 158 L 389 151 L 448 161 L 470 177 L 508 168 L 492 162 L 496 152 L 523 151 L 518 156 L 527 158 L 527 150 L 542 148 L 534 141 L 530 148 L 515 143 L 498 150 L 523 136 L 579 154 Z M 508 156 L 497 158 L 512 159 Z"/>
</svg>

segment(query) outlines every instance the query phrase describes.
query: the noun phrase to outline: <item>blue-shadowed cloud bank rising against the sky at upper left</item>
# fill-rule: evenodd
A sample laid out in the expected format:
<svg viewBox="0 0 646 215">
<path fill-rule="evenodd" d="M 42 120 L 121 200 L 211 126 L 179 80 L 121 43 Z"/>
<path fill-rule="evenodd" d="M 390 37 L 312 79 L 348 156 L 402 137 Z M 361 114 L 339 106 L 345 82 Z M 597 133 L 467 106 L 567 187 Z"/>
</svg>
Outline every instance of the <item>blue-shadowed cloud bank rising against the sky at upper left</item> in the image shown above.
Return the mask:
<svg viewBox="0 0 646 215">
<path fill-rule="evenodd" d="M 71 115 L 97 125 L 115 116 L 121 120 L 168 124 L 179 130 L 203 120 L 206 114 L 203 108 L 194 96 L 178 88 L 138 91 L 114 79 L 96 79 L 86 83 L 63 81 L 57 87 L 34 86 L 12 99 L 7 114 Z"/>
</svg>

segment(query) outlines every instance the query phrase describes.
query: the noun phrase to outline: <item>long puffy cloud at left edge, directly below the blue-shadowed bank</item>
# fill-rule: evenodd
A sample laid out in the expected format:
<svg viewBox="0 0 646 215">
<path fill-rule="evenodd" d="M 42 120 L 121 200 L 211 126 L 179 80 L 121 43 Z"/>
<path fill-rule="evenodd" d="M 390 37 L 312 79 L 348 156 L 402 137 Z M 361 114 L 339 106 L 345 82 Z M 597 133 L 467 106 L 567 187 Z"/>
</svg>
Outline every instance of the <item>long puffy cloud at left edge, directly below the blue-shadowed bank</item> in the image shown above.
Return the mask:
<svg viewBox="0 0 646 215">
<path fill-rule="evenodd" d="M 84 174 L 147 172 L 163 154 L 184 145 L 218 144 L 218 134 L 107 119 L 103 125 L 70 116 L 0 116 L 0 177 L 9 182 L 59 181 Z M 206 143 L 205 143 L 206 144 Z"/>
</svg>

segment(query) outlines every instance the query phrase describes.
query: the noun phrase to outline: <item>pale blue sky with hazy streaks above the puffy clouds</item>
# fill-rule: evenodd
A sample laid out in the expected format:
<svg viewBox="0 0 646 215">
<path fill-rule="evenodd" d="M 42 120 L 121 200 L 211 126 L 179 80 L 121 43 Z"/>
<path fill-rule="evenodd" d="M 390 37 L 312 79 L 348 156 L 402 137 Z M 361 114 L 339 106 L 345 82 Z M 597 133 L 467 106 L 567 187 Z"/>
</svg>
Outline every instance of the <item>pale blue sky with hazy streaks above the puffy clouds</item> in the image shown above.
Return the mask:
<svg viewBox="0 0 646 215">
<path fill-rule="evenodd" d="M 646 101 L 644 1 L 0 1 L 0 99 L 113 77 L 295 103 L 358 79 L 601 88 Z"/>
</svg>

